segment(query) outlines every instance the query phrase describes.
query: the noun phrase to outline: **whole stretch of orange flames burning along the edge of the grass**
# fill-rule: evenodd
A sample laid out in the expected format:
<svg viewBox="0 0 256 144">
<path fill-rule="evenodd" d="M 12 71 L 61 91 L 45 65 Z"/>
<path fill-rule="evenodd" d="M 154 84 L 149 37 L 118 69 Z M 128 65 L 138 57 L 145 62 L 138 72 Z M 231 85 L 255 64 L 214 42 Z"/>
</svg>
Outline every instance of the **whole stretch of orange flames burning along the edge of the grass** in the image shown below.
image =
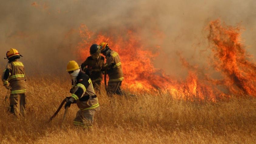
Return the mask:
<svg viewBox="0 0 256 144">
<path fill-rule="evenodd" d="M 126 30 L 126 35 L 113 32 L 91 32 L 86 25 L 80 26 L 82 41 L 78 44 L 80 60 L 89 56 L 90 45 L 107 42 L 111 49 L 118 52 L 122 62 L 122 69 L 126 89 L 136 92 L 163 91 L 169 92 L 175 98 L 189 100 L 217 101 L 230 95 L 247 94 L 255 96 L 255 64 L 250 62 L 245 53 L 245 48 L 240 41 L 240 28 L 220 24 L 219 20 L 208 25 L 208 40 L 211 43 L 212 63 L 215 71 L 223 79 L 212 79 L 210 74 L 202 74 L 197 66 L 189 65 L 180 55 L 183 65 L 189 69 L 185 81 L 167 75 L 164 70 L 156 69 L 153 61 L 158 53 L 152 47 L 143 44 L 136 32 Z M 161 32 L 158 37 L 163 37 Z M 154 45 L 158 48 L 159 45 Z M 200 78 L 199 78 L 200 77 Z M 202 78 L 201 78 L 202 77 Z M 220 90 L 224 87 L 227 92 Z"/>
</svg>

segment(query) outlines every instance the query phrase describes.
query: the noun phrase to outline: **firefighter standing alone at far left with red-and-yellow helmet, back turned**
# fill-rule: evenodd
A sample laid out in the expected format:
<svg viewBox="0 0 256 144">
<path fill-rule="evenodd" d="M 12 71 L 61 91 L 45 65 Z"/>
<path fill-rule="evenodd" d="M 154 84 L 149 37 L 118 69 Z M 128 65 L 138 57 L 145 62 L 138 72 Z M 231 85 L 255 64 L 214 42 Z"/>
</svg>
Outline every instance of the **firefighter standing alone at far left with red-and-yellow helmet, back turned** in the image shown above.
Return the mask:
<svg viewBox="0 0 256 144">
<path fill-rule="evenodd" d="M 26 77 L 24 65 L 18 61 L 22 55 L 16 49 L 6 52 L 8 63 L 2 74 L 2 82 L 6 89 L 10 89 L 10 112 L 17 116 L 25 116 Z"/>
</svg>

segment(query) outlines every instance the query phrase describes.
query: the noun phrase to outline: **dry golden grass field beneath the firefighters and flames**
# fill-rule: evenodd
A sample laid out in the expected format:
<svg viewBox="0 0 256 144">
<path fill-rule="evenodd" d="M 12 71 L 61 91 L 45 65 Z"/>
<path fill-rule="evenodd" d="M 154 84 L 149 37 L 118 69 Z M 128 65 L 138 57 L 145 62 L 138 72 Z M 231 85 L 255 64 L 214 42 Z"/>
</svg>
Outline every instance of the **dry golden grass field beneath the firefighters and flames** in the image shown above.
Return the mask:
<svg viewBox="0 0 256 144">
<path fill-rule="evenodd" d="M 0 103 L 1 143 L 256 143 L 256 99 L 231 97 L 222 102 L 190 102 L 152 92 L 136 97 L 98 94 L 101 110 L 93 129 L 73 126 L 78 110 L 71 105 L 63 128 L 64 108 L 47 123 L 69 96 L 68 77 L 27 80 L 27 115 L 15 119 Z M 125 90 L 128 93 L 128 90 Z M 135 93 L 135 92 L 131 92 Z"/>
</svg>

